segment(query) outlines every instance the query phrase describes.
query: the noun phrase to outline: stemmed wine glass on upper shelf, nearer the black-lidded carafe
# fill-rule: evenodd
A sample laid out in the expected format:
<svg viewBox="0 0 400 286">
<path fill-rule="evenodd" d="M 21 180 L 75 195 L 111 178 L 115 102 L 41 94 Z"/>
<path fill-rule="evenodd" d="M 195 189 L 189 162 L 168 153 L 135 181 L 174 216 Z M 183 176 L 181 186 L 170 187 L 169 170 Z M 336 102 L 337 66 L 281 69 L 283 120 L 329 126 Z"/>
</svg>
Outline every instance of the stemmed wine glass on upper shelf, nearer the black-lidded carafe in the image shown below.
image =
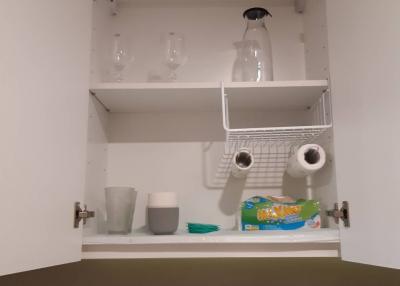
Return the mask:
<svg viewBox="0 0 400 286">
<path fill-rule="evenodd" d="M 182 34 L 169 32 L 164 35 L 164 61 L 169 69 L 168 80 L 176 81 L 176 70 L 185 63 L 185 38 Z"/>
</svg>

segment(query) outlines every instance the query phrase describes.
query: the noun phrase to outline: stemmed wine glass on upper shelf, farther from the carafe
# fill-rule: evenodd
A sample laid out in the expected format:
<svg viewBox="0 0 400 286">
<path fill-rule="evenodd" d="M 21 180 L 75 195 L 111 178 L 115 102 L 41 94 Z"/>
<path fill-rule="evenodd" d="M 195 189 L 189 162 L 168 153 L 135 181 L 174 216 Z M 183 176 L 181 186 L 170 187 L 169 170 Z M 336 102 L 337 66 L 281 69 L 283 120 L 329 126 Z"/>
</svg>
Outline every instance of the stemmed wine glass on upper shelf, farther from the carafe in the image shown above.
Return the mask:
<svg viewBox="0 0 400 286">
<path fill-rule="evenodd" d="M 112 50 L 113 79 L 117 82 L 124 80 L 123 72 L 128 64 L 133 60 L 130 57 L 126 39 L 122 39 L 121 34 L 114 34 Z"/>
</svg>

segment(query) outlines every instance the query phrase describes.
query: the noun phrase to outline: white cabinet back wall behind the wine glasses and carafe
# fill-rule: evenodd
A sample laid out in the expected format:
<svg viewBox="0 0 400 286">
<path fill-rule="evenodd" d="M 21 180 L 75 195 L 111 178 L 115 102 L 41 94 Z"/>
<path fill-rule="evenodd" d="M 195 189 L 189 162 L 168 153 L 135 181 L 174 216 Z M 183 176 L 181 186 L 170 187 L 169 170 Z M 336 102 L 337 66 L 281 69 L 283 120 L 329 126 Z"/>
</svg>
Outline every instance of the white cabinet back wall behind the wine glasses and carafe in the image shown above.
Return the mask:
<svg viewBox="0 0 400 286">
<path fill-rule="evenodd" d="M 251 2 L 249 2 L 251 3 Z M 99 6 L 99 5 L 98 5 Z M 274 78 L 300 80 L 305 78 L 304 44 L 302 42 L 303 16 L 293 6 L 269 6 L 273 17 L 267 19 L 270 31 Z M 95 6 L 96 7 L 96 6 Z M 111 35 L 121 33 L 129 39 L 135 61 L 128 68 L 126 81 L 147 81 L 148 73 L 165 72 L 162 58 L 162 33 L 180 32 L 186 38 L 187 63 L 178 69 L 179 81 L 231 80 L 231 70 L 236 58 L 233 42 L 241 40 L 245 30 L 242 13 L 251 4 L 193 6 L 133 5 L 122 3 L 119 14 L 111 17 L 112 31 L 96 29 L 102 33 L 96 40 L 97 68 L 103 80 L 109 80 Z M 102 29 L 102 23 L 99 28 Z M 96 28 L 96 21 L 94 26 Z M 104 26 L 104 25 L 103 25 Z M 105 43 L 109 41 L 109 44 Z"/>
</svg>

